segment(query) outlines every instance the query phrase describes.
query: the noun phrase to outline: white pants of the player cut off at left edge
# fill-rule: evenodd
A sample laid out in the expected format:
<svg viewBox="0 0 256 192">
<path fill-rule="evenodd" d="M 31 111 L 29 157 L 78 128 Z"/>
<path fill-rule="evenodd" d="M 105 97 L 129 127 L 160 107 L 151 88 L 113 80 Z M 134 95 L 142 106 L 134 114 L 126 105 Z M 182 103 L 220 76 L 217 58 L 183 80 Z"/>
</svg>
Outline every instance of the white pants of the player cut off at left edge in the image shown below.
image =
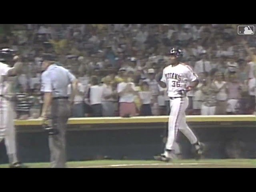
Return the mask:
<svg viewBox="0 0 256 192">
<path fill-rule="evenodd" d="M 12 102 L 0 97 L 0 141 L 4 139 L 6 152 L 17 161 L 16 132 L 14 127 L 15 112 Z"/>
</svg>

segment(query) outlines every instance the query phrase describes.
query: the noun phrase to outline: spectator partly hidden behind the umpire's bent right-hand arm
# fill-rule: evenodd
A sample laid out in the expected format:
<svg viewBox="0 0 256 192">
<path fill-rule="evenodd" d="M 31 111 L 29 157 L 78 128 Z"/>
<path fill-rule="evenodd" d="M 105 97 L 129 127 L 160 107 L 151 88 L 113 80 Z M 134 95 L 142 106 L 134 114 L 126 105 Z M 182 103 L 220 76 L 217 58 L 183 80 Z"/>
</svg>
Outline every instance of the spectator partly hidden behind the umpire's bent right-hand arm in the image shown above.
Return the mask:
<svg viewBox="0 0 256 192">
<path fill-rule="evenodd" d="M 71 84 L 68 85 L 68 95 L 71 94 Z M 77 84 L 77 92 L 74 97 L 74 104 L 72 108 L 72 116 L 73 117 L 84 117 L 84 87 L 82 83 L 78 80 Z"/>
</svg>

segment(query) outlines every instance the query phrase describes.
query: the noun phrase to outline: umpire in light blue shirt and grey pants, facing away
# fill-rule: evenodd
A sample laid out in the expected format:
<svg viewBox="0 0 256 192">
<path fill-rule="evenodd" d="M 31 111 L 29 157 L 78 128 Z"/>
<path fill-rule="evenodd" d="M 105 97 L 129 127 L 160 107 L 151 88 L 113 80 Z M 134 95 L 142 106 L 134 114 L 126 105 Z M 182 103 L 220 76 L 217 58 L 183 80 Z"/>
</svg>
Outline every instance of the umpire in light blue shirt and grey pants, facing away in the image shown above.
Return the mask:
<svg viewBox="0 0 256 192">
<path fill-rule="evenodd" d="M 52 131 L 49 132 L 50 161 L 52 168 L 65 168 L 66 128 L 77 89 L 77 80 L 67 69 L 56 65 L 54 56 L 46 55 L 43 60 L 41 92 L 44 94 L 44 104 L 41 118 L 46 120 L 48 110 L 51 111 Z M 68 100 L 67 90 L 69 84 L 72 84 L 72 94 Z"/>
</svg>

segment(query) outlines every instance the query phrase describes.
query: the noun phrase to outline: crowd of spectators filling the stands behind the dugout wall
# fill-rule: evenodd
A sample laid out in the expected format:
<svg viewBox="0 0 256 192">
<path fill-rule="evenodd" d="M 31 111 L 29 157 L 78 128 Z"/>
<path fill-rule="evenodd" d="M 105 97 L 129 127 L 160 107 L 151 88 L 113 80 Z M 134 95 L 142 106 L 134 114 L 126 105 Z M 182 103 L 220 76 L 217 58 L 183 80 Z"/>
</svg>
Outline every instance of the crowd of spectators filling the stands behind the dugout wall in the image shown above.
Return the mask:
<svg viewBox="0 0 256 192">
<path fill-rule="evenodd" d="M 0 35 L 0 48 L 18 50 L 26 66 L 12 87 L 17 118 L 40 116 L 43 54 L 78 78 L 73 117 L 166 115 L 169 98 L 158 82 L 172 47 L 182 49 L 182 62 L 200 80 L 188 92 L 187 114 L 253 114 L 256 36 L 238 35 L 238 25 L 13 25 Z"/>
</svg>

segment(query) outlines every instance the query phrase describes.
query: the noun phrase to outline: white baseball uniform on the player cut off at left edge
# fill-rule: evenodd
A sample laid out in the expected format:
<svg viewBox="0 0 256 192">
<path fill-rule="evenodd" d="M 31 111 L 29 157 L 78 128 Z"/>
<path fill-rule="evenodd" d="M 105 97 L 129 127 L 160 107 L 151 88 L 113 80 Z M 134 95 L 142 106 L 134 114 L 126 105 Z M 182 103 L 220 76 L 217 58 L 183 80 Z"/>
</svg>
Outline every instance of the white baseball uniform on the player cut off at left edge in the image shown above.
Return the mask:
<svg viewBox="0 0 256 192">
<path fill-rule="evenodd" d="M 11 68 L 0 62 L 0 141 L 4 139 L 9 162 L 17 162 L 16 132 L 14 127 L 15 112 L 13 103 L 4 96 L 8 93 L 9 82 L 4 81 Z"/>
</svg>

